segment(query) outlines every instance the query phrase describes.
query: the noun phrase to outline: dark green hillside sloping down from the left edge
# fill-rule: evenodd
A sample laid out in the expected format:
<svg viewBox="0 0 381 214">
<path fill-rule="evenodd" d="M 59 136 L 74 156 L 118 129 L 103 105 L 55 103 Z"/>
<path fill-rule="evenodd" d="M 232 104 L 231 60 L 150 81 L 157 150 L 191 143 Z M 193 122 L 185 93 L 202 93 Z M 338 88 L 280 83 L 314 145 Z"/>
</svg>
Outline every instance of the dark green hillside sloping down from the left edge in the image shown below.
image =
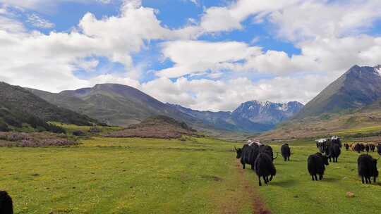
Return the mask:
<svg viewBox="0 0 381 214">
<path fill-rule="evenodd" d="M 0 131 L 17 130 L 28 124 L 38 130 L 60 131 L 48 121 L 75 125 L 97 122 L 65 108 L 48 103 L 22 87 L 0 82 Z"/>
</svg>

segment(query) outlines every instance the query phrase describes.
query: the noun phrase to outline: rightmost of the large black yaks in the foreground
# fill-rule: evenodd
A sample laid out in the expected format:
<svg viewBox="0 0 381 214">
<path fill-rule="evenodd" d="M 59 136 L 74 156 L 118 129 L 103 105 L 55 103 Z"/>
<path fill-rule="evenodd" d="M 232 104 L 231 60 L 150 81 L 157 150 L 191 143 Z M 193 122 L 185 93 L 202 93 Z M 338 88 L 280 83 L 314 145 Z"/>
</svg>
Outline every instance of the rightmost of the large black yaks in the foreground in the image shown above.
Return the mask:
<svg viewBox="0 0 381 214">
<path fill-rule="evenodd" d="M 365 178 L 365 183 L 370 184 L 370 177 L 373 177 L 373 182 L 376 181 L 376 178 L 378 177 L 376 159 L 373 159 L 372 156 L 368 154 L 362 154 L 361 156 L 358 156 L 357 166 L 358 175 L 361 176 L 361 181 L 363 183 Z"/>
</svg>

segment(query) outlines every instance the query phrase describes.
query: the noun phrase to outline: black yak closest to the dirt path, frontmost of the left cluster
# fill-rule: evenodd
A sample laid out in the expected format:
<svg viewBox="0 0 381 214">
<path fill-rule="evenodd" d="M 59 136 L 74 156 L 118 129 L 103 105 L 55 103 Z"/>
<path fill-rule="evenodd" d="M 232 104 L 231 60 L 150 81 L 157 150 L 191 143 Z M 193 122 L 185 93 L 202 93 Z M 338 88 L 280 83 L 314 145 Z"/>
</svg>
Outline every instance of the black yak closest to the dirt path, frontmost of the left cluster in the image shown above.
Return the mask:
<svg viewBox="0 0 381 214">
<path fill-rule="evenodd" d="M 259 153 L 257 159 L 254 163 L 255 173 L 258 175 L 259 185 L 262 186 L 260 182 L 260 177 L 263 177 L 265 184 L 272 180 L 272 177 L 277 174 L 274 163 L 272 163 L 272 158 L 269 154 L 262 152 Z M 270 176 L 270 179 L 269 179 Z"/>
</svg>

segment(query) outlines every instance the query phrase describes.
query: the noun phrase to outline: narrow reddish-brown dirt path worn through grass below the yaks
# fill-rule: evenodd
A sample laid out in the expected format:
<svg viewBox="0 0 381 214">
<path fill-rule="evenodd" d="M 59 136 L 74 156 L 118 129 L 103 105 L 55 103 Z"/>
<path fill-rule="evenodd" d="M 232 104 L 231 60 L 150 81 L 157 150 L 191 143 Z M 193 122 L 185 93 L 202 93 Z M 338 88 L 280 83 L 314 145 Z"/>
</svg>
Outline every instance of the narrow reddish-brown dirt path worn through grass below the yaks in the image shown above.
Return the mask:
<svg viewBox="0 0 381 214">
<path fill-rule="evenodd" d="M 239 171 L 240 183 L 244 187 L 244 191 L 248 192 L 248 197 L 250 198 L 250 201 L 253 201 L 251 203 L 253 214 L 271 214 L 270 210 L 266 208 L 265 203 L 263 203 L 262 199 L 260 199 L 257 189 L 258 187 L 253 187 L 253 185 L 250 185 L 248 180 L 246 180 L 244 175 L 246 170 L 242 169 L 241 163 L 237 163 L 236 168 Z"/>
</svg>

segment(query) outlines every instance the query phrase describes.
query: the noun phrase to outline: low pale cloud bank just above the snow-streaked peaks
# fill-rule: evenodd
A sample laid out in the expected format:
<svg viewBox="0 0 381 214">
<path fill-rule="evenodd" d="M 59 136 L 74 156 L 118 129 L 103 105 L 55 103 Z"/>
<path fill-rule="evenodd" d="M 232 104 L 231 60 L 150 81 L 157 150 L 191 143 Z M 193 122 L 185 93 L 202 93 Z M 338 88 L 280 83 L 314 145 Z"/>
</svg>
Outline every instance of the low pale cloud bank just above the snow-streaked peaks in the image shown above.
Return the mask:
<svg viewBox="0 0 381 214">
<path fill-rule="evenodd" d="M 320 81 L 316 81 L 316 79 Z M 302 101 L 322 90 L 332 77 L 307 75 L 304 77 L 276 77 L 253 82 L 246 77 L 221 80 L 187 80 L 184 77 L 171 82 L 161 77 L 140 89 L 155 98 L 169 103 L 179 103 L 198 110 L 231 111 L 239 104 L 250 101 Z"/>
</svg>

